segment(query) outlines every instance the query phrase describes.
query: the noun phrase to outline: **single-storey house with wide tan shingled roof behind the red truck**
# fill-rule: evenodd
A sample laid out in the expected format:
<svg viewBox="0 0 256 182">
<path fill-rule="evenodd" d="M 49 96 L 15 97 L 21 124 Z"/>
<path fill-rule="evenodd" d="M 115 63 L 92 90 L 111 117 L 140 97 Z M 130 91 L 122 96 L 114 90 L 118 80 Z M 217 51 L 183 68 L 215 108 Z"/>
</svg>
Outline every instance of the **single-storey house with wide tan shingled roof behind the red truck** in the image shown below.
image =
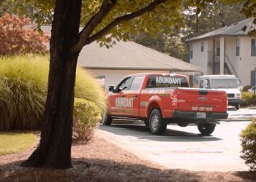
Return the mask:
<svg viewBox="0 0 256 182">
<path fill-rule="evenodd" d="M 50 26 L 42 26 L 50 33 Z M 116 41 L 116 45 L 99 47 L 96 41 L 86 45 L 78 57 L 78 66 L 85 68 L 108 90 L 117 85 L 124 76 L 141 72 L 184 74 L 190 81 L 200 69 L 182 60 L 152 50 L 133 41 Z"/>
</svg>

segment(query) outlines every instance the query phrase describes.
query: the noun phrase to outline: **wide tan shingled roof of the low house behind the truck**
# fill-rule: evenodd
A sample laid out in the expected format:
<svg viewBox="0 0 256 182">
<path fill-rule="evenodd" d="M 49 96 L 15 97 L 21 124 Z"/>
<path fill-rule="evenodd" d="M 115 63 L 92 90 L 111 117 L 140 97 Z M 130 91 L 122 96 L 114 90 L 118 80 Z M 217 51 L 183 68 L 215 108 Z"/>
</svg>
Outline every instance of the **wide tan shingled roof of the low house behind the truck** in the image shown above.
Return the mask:
<svg viewBox="0 0 256 182">
<path fill-rule="evenodd" d="M 50 26 L 42 31 L 50 32 Z M 133 41 L 116 41 L 116 45 L 99 47 L 96 41 L 86 45 L 78 57 L 78 65 L 91 69 L 128 69 L 159 71 L 200 71 L 200 68 L 157 52 Z"/>
</svg>

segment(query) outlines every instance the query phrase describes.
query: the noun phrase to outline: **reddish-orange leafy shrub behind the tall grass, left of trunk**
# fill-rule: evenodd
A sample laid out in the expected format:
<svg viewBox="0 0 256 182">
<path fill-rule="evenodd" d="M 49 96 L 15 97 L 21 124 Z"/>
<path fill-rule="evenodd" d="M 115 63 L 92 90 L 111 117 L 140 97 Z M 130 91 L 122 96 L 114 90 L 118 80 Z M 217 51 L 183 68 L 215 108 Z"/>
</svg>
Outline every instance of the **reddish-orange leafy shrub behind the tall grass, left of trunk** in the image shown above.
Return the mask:
<svg viewBox="0 0 256 182">
<path fill-rule="evenodd" d="M 27 17 L 0 17 L 0 54 L 46 53 L 49 35 L 39 33 Z"/>
</svg>

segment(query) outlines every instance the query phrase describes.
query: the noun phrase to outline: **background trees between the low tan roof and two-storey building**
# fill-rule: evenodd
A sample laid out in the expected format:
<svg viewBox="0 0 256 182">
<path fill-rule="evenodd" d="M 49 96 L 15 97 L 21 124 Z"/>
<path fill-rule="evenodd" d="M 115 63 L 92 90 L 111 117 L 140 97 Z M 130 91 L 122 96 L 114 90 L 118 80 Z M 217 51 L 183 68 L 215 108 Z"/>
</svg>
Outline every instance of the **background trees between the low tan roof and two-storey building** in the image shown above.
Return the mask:
<svg viewBox="0 0 256 182">
<path fill-rule="evenodd" d="M 192 7 L 184 1 L 184 11 L 182 12 L 181 28 L 165 28 L 159 33 L 157 39 L 149 34 L 139 34 L 132 37 L 133 41 L 151 47 L 159 52 L 164 52 L 175 58 L 184 60 L 189 53 L 186 39 L 209 31 L 231 25 L 246 17 L 241 12 L 244 2 L 238 1 L 236 4 L 228 2 L 212 1 L 200 7 Z"/>
</svg>

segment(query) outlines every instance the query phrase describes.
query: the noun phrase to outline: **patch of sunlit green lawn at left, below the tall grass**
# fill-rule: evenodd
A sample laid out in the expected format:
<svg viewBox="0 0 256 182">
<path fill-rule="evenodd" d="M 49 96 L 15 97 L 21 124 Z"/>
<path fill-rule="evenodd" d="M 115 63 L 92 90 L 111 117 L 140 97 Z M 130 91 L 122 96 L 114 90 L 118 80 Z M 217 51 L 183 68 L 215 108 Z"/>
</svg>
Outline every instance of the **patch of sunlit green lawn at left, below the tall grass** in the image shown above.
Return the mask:
<svg viewBox="0 0 256 182">
<path fill-rule="evenodd" d="M 35 142 L 33 133 L 0 132 L 0 156 L 24 151 L 34 146 Z"/>
</svg>

